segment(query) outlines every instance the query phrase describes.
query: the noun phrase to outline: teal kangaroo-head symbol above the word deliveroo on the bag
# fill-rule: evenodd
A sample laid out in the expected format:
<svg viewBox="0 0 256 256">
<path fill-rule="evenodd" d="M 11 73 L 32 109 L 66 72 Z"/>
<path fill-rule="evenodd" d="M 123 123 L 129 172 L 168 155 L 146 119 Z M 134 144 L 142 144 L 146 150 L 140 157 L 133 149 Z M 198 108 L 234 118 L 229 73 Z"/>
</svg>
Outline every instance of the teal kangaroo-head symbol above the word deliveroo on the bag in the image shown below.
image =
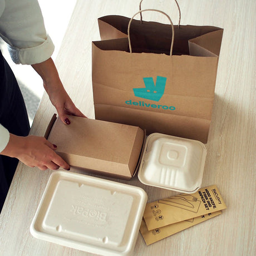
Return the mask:
<svg viewBox="0 0 256 256">
<path fill-rule="evenodd" d="M 152 77 L 144 77 L 145 88 L 133 88 L 134 95 L 147 100 L 159 101 L 164 94 L 166 77 L 157 76 L 156 84 Z"/>
</svg>

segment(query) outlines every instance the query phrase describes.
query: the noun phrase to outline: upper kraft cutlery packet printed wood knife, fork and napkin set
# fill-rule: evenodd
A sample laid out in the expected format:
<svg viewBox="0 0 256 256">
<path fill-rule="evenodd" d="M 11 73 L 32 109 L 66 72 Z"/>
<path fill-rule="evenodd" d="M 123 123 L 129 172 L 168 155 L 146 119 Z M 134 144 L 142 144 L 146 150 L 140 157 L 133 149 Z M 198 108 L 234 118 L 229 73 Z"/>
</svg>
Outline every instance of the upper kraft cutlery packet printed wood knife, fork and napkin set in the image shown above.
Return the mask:
<svg viewBox="0 0 256 256">
<path fill-rule="evenodd" d="M 152 230 L 226 208 L 218 188 L 212 185 L 193 194 L 178 194 L 148 203 L 143 217 L 147 229 Z"/>
</svg>

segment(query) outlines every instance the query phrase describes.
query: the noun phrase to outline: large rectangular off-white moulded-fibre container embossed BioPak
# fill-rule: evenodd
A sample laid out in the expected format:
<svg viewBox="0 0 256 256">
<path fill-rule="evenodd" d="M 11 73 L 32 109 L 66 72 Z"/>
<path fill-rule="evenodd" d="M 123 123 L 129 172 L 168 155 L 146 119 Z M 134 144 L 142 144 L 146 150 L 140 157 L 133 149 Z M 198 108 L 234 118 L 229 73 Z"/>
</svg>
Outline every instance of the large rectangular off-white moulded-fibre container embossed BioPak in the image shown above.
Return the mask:
<svg viewBox="0 0 256 256">
<path fill-rule="evenodd" d="M 54 171 L 31 223 L 39 239 L 90 253 L 130 255 L 147 195 L 136 186 Z"/>
</svg>

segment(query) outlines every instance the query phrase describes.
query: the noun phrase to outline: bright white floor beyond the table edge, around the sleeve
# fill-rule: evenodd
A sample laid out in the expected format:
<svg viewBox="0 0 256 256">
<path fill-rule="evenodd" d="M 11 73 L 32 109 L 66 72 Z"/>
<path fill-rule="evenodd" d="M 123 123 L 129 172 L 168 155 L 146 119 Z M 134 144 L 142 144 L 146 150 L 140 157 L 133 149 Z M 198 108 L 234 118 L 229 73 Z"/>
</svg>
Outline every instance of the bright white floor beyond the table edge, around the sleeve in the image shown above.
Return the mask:
<svg viewBox="0 0 256 256">
<path fill-rule="evenodd" d="M 53 60 L 55 60 L 76 0 L 38 0 L 38 2 L 42 9 L 46 30 L 55 44 L 55 52 L 52 55 Z M 29 123 L 32 125 L 44 92 L 41 77 L 31 66 L 14 64 L 7 51 L 6 43 L 2 40 L 0 41 L 0 48 L 17 78 L 27 107 Z"/>
</svg>

